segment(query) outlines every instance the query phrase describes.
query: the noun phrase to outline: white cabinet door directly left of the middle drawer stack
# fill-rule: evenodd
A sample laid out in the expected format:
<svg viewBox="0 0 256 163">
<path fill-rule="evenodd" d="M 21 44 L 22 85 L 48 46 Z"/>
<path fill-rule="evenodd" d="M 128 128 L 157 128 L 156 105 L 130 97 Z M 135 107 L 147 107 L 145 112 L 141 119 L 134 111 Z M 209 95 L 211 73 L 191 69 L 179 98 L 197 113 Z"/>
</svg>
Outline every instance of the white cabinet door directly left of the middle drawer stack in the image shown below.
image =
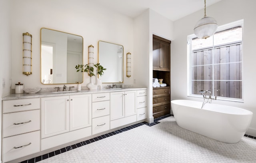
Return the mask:
<svg viewBox="0 0 256 163">
<path fill-rule="evenodd" d="M 92 125 L 92 94 L 70 95 L 70 131 Z"/>
</svg>

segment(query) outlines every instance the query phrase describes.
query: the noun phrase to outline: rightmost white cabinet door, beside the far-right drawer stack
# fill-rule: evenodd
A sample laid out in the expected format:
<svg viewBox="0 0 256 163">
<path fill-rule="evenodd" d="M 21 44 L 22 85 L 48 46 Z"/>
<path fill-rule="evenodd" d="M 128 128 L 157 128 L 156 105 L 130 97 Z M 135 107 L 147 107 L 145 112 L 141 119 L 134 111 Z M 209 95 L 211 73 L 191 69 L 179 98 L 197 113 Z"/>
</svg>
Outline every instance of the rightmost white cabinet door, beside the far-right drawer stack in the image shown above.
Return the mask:
<svg viewBox="0 0 256 163">
<path fill-rule="evenodd" d="M 125 117 L 137 114 L 136 94 L 137 94 L 137 91 L 125 91 L 124 92 Z"/>
</svg>

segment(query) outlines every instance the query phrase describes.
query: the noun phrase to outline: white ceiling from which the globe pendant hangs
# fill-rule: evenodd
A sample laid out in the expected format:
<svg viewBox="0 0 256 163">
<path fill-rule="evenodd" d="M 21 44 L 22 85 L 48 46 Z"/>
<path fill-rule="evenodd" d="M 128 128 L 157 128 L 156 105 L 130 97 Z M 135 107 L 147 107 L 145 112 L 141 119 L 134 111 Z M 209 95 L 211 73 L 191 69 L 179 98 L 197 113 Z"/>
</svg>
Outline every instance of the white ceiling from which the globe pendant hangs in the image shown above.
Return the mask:
<svg viewBox="0 0 256 163">
<path fill-rule="evenodd" d="M 206 0 L 206 14 L 207 6 L 219 1 L 221 0 Z M 202 17 L 204 16 L 204 0 L 94 0 L 94 2 L 131 18 L 135 18 L 148 8 L 172 21 L 198 10 L 202 10 Z"/>
</svg>

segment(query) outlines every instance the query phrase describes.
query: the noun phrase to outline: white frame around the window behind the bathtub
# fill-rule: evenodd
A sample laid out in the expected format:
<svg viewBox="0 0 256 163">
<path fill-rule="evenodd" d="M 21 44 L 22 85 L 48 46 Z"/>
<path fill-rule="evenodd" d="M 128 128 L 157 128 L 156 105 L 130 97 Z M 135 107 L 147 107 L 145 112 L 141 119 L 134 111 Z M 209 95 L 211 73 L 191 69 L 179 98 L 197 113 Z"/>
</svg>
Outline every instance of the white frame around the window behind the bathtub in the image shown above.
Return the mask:
<svg viewBox="0 0 256 163">
<path fill-rule="evenodd" d="M 218 26 L 218 29 L 216 32 L 227 30 L 236 26 L 242 26 L 242 37 L 244 36 L 244 20 L 238 20 L 236 22 L 224 24 L 222 26 Z M 196 95 L 192 94 L 192 61 L 191 61 L 191 52 L 192 52 L 192 44 L 190 42 L 193 38 L 196 38 L 195 34 L 191 34 L 187 37 L 187 96 L 188 97 L 200 97 L 202 98 L 202 95 Z M 218 100 L 224 100 L 224 101 L 236 101 L 236 102 L 244 102 L 244 63 L 243 63 L 243 38 L 242 38 L 242 99 L 237 98 L 231 98 L 231 97 L 220 97 L 217 96 Z"/>
</svg>

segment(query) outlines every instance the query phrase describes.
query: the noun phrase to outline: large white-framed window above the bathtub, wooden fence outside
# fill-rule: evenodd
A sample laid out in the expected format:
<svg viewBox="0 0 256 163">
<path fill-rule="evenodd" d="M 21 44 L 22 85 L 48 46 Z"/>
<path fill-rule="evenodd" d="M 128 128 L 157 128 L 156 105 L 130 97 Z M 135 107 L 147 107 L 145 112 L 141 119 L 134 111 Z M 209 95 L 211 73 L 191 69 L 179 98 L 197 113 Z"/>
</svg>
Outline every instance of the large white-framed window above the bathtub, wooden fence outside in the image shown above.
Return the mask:
<svg viewBox="0 0 256 163">
<path fill-rule="evenodd" d="M 189 95 L 210 90 L 218 99 L 242 100 L 243 20 L 219 26 L 214 36 L 188 36 Z"/>
</svg>

